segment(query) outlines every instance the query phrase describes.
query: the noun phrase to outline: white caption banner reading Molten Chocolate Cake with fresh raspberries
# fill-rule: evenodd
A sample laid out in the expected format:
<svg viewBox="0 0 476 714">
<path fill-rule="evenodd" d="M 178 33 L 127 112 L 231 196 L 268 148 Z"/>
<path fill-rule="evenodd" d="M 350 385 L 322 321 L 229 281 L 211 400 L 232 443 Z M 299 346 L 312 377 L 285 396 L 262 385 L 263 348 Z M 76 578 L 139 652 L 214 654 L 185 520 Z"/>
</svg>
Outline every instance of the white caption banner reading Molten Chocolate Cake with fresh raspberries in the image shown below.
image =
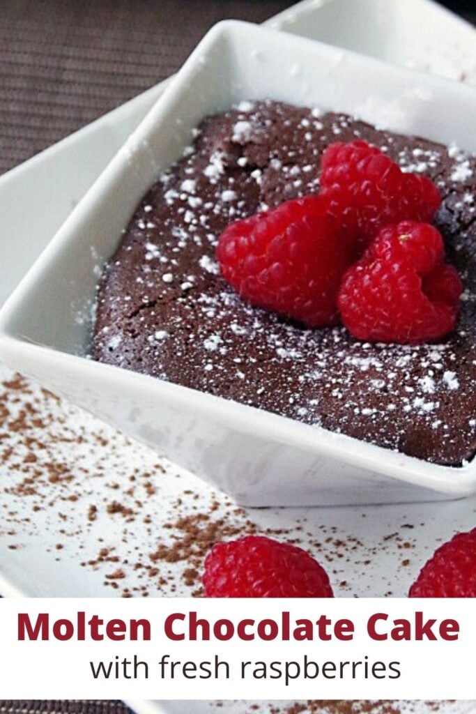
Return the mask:
<svg viewBox="0 0 476 714">
<path fill-rule="evenodd" d="M 0 673 L 11 699 L 472 699 L 473 610 L 470 598 L 12 598 Z"/>
</svg>

